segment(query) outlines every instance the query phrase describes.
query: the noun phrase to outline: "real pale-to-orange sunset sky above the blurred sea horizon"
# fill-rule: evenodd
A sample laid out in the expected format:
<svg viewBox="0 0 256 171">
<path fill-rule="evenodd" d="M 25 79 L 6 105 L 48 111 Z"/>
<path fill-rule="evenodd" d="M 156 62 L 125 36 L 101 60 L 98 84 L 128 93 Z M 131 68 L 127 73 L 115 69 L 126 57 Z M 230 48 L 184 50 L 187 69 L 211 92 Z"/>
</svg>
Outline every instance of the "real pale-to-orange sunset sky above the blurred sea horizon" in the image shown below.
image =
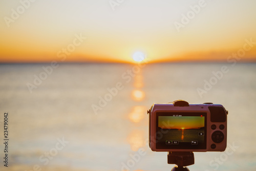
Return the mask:
<svg viewBox="0 0 256 171">
<path fill-rule="evenodd" d="M 180 32 L 175 22 L 182 24 L 182 14 L 199 1 L 124 0 L 114 10 L 109 0 L 36 0 L 27 8 L 20 2 L 30 1 L 0 2 L 0 62 L 132 62 L 136 51 L 152 62 L 226 61 L 245 39 L 256 41 L 255 0 L 205 0 Z M 75 34 L 87 38 L 60 57 Z M 240 61 L 256 61 L 254 46 Z"/>
</svg>

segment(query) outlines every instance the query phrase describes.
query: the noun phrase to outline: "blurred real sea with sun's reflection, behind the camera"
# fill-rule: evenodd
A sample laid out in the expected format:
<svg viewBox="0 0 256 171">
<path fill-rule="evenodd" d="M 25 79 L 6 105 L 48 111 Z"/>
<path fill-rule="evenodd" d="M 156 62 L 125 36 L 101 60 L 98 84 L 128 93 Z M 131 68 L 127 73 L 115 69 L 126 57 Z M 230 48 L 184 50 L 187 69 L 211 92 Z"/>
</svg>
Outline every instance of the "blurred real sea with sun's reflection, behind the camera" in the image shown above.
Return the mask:
<svg viewBox="0 0 256 171">
<path fill-rule="evenodd" d="M 226 151 L 195 153 L 190 170 L 256 170 L 255 63 L 1 64 L 0 170 L 170 170 L 146 111 L 177 99 L 229 112 Z"/>
</svg>

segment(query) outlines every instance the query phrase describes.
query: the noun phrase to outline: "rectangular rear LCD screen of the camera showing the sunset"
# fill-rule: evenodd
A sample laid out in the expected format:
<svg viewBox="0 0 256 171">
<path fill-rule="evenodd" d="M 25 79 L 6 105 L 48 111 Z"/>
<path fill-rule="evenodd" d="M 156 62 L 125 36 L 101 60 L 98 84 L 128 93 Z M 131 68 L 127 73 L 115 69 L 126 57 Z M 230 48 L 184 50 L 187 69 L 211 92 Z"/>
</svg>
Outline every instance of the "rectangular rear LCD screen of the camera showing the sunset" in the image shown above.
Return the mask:
<svg viewBox="0 0 256 171">
<path fill-rule="evenodd" d="M 157 113 L 157 149 L 206 149 L 206 113 Z"/>
</svg>

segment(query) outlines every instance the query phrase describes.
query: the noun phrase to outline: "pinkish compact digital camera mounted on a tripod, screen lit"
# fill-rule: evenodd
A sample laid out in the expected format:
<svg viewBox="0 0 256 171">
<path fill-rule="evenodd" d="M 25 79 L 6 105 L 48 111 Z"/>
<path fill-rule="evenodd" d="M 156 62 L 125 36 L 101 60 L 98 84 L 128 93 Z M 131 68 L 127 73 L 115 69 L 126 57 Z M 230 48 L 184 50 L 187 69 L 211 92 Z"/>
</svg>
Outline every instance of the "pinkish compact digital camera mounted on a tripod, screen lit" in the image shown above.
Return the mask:
<svg viewBox="0 0 256 171">
<path fill-rule="evenodd" d="M 223 152 L 227 146 L 227 114 L 221 104 L 189 104 L 184 100 L 154 103 L 149 145 L 156 152 Z"/>
</svg>

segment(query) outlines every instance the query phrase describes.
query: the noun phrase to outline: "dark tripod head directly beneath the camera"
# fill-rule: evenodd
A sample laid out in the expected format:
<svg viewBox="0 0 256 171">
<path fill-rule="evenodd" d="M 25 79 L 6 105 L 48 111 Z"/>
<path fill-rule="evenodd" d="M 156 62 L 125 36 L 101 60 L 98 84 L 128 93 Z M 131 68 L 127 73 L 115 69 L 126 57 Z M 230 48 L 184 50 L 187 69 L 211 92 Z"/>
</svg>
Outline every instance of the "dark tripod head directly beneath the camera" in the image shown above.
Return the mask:
<svg viewBox="0 0 256 171">
<path fill-rule="evenodd" d="M 176 164 L 172 171 L 189 171 L 185 166 L 195 163 L 193 152 L 169 152 L 167 155 L 168 164 Z"/>
</svg>

